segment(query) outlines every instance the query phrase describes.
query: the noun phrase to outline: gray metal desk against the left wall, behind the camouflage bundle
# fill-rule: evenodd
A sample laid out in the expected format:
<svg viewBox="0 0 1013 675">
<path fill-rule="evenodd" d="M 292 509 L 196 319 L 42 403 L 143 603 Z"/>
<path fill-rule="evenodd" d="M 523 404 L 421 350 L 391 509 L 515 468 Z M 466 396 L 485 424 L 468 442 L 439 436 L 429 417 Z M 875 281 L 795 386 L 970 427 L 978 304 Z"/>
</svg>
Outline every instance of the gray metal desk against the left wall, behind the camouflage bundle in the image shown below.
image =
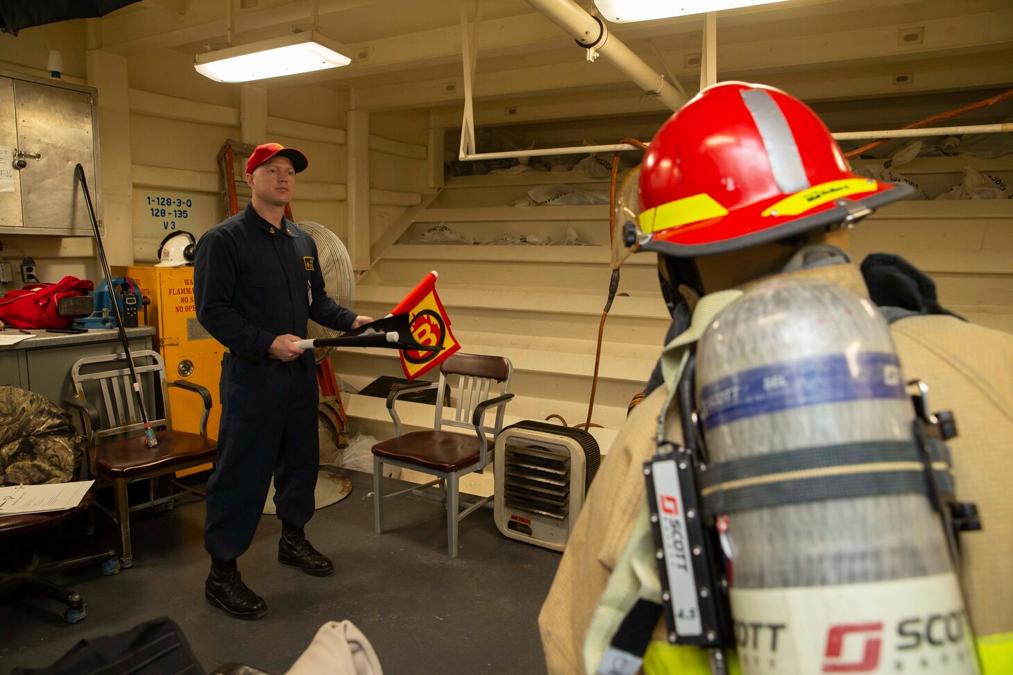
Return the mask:
<svg viewBox="0 0 1013 675">
<path fill-rule="evenodd" d="M 19 334 L 7 328 L 3 334 Z M 0 345 L 0 385 L 40 393 L 57 405 L 74 395 L 70 369 L 78 359 L 123 352 L 118 330 L 91 329 L 79 334 L 30 330 L 16 345 Z M 150 350 L 155 328 L 142 325 L 127 328 L 131 351 Z"/>
</svg>

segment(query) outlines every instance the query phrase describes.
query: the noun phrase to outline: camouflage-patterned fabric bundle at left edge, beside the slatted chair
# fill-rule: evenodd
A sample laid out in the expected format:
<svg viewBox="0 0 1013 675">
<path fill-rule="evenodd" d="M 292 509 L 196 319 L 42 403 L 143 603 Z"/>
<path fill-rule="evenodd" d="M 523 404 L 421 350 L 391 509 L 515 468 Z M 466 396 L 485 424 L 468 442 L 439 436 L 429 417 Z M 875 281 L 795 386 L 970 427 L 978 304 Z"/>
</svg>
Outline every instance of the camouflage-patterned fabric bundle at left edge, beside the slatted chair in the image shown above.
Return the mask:
<svg viewBox="0 0 1013 675">
<path fill-rule="evenodd" d="M 86 440 L 45 396 L 0 386 L 0 483 L 69 482 Z"/>
</svg>

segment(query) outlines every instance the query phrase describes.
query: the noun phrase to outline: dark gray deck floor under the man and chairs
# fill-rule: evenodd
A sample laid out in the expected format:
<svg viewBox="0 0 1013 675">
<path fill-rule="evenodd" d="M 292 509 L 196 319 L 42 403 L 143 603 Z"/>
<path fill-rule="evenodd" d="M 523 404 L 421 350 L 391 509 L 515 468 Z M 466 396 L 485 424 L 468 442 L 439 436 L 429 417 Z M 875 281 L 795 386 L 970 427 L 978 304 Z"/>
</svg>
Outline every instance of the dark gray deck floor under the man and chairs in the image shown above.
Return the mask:
<svg viewBox="0 0 1013 675">
<path fill-rule="evenodd" d="M 284 673 L 329 620 L 348 619 L 370 640 L 388 675 L 545 672 L 537 616 L 559 554 L 503 537 L 491 509 L 460 526 L 460 553 L 447 555 L 439 502 L 389 501 L 388 531 L 373 531 L 372 476 L 343 471 L 352 494 L 317 510 L 309 539 L 335 572 L 314 578 L 277 558 L 281 522 L 264 516 L 239 558 L 243 580 L 267 602 L 258 621 L 231 618 L 204 598 L 210 559 L 204 550 L 203 501 L 131 519 L 134 567 L 102 577 L 85 570 L 55 581 L 84 596 L 87 618 L 62 618 L 59 603 L 31 597 L 0 601 L 0 672 L 41 668 L 78 641 L 112 634 L 168 616 L 183 630 L 206 670 L 240 662 Z M 83 527 L 83 523 L 77 524 Z M 119 548 L 104 515 L 91 537 L 61 535 L 63 552 Z"/>
</svg>

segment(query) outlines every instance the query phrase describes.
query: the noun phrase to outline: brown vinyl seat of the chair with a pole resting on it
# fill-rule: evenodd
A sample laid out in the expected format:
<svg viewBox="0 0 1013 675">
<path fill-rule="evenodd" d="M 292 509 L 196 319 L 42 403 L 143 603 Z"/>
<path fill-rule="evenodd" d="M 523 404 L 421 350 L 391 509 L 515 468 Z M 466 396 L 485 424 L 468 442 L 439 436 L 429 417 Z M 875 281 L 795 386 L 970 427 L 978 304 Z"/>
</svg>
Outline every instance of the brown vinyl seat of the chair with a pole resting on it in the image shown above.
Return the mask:
<svg viewBox="0 0 1013 675">
<path fill-rule="evenodd" d="M 107 478 L 141 478 L 215 461 L 217 443 L 200 434 L 165 430 L 155 433 L 158 445 L 144 437 L 106 441 L 95 448 L 95 472 Z"/>
</svg>

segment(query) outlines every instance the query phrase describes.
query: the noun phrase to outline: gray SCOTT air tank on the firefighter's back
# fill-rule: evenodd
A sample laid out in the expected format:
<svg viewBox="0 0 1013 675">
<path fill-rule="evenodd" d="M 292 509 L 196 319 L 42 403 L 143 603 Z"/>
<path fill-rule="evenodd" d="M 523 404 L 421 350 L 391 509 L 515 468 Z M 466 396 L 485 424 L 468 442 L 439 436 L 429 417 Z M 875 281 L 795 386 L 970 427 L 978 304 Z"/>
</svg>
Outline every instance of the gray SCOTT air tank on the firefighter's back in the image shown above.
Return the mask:
<svg viewBox="0 0 1013 675">
<path fill-rule="evenodd" d="M 749 675 L 977 671 L 900 366 L 878 310 L 819 282 L 762 283 L 700 340 L 701 494 Z"/>
</svg>

